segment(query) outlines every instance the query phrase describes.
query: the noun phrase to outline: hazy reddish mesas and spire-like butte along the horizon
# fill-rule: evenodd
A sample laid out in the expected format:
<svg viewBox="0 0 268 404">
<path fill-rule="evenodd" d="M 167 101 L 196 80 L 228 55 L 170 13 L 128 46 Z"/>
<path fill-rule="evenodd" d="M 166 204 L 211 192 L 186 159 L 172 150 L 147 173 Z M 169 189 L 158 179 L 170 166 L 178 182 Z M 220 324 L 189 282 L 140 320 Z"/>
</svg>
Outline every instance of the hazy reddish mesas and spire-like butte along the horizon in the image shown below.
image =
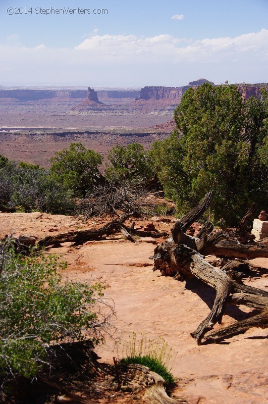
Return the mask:
<svg viewBox="0 0 268 404">
<path fill-rule="evenodd" d="M 133 110 L 146 110 L 148 108 L 159 110 L 170 110 L 174 106 L 180 104 L 184 92 L 191 87 L 199 86 L 203 83 L 213 82 L 204 78 L 199 78 L 190 81 L 185 86 L 180 87 L 165 87 L 165 86 L 145 86 L 141 89 L 138 88 L 99 88 L 94 90 L 88 89 L 75 89 L 75 88 L 0 88 L 0 102 L 16 104 L 21 102 L 38 102 L 39 100 L 46 100 L 46 104 L 69 103 L 75 110 L 105 110 L 116 111 L 121 107 L 127 110 L 126 106 L 131 106 Z M 241 94 L 243 101 L 254 96 L 260 98 L 260 89 L 265 87 L 268 89 L 268 83 L 259 84 L 246 84 L 237 83 L 237 88 Z M 100 99 L 100 100 L 99 100 Z M 80 107 L 81 108 L 80 108 Z M 120 107 L 121 106 L 121 107 Z M 122 109 L 121 108 L 121 109 Z M 174 108 L 173 108 L 174 109 Z"/>
</svg>

